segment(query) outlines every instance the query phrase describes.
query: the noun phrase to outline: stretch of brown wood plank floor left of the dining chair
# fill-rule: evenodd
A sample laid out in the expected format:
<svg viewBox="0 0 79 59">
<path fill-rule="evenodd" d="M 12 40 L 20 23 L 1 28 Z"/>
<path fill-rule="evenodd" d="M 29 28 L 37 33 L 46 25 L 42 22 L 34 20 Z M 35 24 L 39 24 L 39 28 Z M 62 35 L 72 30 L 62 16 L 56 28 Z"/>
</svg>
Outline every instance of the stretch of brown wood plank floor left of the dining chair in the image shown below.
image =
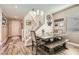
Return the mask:
<svg viewBox="0 0 79 59">
<path fill-rule="evenodd" d="M 7 43 L 0 48 L 1 55 L 30 55 L 31 51 L 24 46 L 24 44 L 19 40 L 8 40 Z"/>
</svg>

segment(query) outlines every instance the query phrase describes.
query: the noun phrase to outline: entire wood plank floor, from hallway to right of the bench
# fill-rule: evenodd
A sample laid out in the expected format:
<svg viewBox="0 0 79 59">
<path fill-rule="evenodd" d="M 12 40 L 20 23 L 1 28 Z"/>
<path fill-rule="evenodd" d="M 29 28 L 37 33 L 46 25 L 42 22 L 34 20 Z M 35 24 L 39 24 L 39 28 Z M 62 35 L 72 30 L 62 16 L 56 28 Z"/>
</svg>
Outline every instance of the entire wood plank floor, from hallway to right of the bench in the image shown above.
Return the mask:
<svg viewBox="0 0 79 59">
<path fill-rule="evenodd" d="M 20 41 L 20 39 L 9 39 L 7 43 L 0 48 L 0 54 L 1 55 L 32 55 L 32 52 L 35 53 L 35 51 L 32 51 L 32 47 L 26 47 L 24 44 Z M 64 49 L 59 51 L 56 54 L 52 55 L 79 55 L 79 47 L 75 47 L 73 45 L 67 44 L 68 49 Z M 43 50 L 39 50 L 38 55 L 48 55 Z"/>
</svg>

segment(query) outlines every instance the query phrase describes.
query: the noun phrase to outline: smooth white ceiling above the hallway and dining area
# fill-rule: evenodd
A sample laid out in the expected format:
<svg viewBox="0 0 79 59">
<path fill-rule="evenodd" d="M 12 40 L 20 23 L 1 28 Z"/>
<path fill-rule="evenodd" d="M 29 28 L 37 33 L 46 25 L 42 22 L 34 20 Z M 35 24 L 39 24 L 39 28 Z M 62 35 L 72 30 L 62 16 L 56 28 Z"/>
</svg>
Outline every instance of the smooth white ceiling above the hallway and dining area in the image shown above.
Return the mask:
<svg viewBox="0 0 79 59">
<path fill-rule="evenodd" d="M 69 4 L 1 4 L 0 7 L 7 17 L 23 18 L 29 10 L 43 10 L 44 12 L 56 12 L 60 8 L 70 6 Z"/>
</svg>

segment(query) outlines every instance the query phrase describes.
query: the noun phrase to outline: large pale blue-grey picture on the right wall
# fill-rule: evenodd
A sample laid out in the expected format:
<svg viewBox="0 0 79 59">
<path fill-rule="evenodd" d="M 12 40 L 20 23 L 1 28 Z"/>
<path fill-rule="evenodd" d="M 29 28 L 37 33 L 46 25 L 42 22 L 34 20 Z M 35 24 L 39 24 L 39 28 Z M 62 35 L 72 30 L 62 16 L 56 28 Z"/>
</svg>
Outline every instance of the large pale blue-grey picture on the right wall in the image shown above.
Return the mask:
<svg viewBox="0 0 79 59">
<path fill-rule="evenodd" d="M 67 32 L 79 32 L 79 19 L 75 17 L 67 18 Z"/>
</svg>

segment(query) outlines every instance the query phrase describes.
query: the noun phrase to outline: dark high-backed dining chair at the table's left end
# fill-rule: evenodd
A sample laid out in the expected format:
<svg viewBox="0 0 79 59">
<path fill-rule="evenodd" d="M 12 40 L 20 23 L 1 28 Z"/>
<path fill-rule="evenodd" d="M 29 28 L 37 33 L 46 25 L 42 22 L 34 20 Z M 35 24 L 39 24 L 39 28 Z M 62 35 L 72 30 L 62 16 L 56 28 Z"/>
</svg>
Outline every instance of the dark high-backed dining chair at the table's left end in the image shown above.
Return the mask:
<svg viewBox="0 0 79 59">
<path fill-rule="evenodd" d="M 31 31 L 31 39 L 32 39 L 32 52 L 34 51 L 33 48 L 35 47 L 35 54 L 37 55 L 38 51 L 40 50 L 39 48 L 44 47 L 45 42 L 42 41 L 42 38 L 36 36 L 35 31 Z"/>
</svg>

